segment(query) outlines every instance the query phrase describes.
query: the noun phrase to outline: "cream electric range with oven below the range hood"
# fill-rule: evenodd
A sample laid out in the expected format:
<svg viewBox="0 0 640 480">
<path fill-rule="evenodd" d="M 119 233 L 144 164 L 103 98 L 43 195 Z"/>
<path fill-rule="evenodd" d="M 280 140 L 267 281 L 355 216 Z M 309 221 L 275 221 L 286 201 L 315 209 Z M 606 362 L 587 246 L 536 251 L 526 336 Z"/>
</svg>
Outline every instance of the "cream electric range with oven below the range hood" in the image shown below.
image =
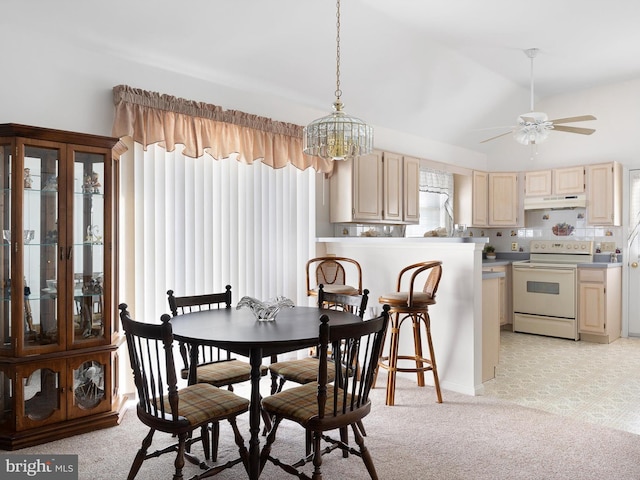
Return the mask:
<svg viewBox="0 0 640 480">
<path fill-rule="evenodd" d="M 579 340 L 577 268 L 593 262 L 593 241 L 532 240 L 513 262 L 513 330 Z"/>
</svg>

